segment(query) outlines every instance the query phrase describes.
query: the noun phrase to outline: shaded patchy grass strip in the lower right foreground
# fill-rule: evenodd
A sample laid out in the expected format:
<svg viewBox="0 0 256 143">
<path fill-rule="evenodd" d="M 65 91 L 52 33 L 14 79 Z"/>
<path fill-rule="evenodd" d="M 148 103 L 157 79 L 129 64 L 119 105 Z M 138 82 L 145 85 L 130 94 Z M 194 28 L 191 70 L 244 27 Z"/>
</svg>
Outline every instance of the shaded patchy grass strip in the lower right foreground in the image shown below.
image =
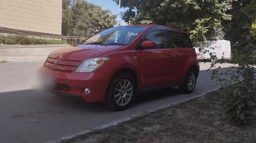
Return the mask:
<svg viewBox="0 0 256 143">
<path fill-rule="evenodd" d="M 253 113 L 248 126 L 227 122 L 221 114 L 221 96 L 215 91 L 62 142 L 256 143 L 256 109 Z"/>
</svg>

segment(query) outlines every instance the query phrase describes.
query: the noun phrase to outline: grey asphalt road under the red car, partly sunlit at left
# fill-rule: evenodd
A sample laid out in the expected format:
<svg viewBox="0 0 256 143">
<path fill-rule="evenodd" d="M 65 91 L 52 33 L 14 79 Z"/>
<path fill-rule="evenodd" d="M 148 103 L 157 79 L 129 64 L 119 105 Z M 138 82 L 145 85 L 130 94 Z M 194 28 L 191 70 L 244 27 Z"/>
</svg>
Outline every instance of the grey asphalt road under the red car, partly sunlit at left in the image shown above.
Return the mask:
<svg viewBox="0 0 256 143">
<path fill-rule="evenodd" d="M 36 74 L 42 63 L 0 63 L 0 142 L 46 142 L 91 129 L 149 109 L 216 89 L 209 63 L 201 71 L 192 94 L 176 88 L 140 94 L 126 111 L 109 111 L 103 104 L 62 97 L 37 90 Z M 222 64 L 226 70 L 231 64 Z"/>
</svg>

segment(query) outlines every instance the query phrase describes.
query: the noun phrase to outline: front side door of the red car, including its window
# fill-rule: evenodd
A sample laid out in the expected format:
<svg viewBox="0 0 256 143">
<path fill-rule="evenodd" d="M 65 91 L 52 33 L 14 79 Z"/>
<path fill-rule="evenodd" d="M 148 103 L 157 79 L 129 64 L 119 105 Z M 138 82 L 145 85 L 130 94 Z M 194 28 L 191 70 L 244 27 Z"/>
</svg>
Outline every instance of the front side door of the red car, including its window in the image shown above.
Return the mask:
<svg viewBox="0 0 256 143">
<path fill-rule="evenodd" d="M 156 47 L 152 49 L 139 50 L 143 87 L 167 83 L 167 58 L 169 50 L 167 49 L 165 29 L 153 28 L 143 36 L 139 44 L 143 41 L 154 41 L 156 43 Z"/>
</svg>

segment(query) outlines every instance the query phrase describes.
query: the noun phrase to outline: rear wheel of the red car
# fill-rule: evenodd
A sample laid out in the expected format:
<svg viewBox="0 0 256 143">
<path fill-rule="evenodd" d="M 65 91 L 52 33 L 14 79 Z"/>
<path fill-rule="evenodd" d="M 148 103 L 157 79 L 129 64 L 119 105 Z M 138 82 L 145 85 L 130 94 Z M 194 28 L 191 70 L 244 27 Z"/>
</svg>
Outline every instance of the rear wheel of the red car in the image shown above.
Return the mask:
<svg viewBox="0 0 256 143">
<path fill-rule="evenodd" d="M 190 69 L 179 89 L 185 94 L 191 94 L 194 91 L 194 87 L 196 87 L 196 70 Z"/>
</svg>

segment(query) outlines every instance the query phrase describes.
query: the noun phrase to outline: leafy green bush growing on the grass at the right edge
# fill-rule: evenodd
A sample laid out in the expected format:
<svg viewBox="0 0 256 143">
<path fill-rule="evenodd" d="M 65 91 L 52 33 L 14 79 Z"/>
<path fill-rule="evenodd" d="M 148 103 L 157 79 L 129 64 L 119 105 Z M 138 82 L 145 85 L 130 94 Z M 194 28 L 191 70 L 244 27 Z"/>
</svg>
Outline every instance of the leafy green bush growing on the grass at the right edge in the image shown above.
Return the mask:
<svg viewBox="0 0 256 143">
<path fill-rule="evenodd" d="M 212 79 L 217 80 L 217 85 L 230 88 L 222 90 L 223 113 L 235 124 L 248 124 L 251 120 L 252 108 L 256 104 L 256 77 L 255 77 L 255 41 L 244 40 L 234 46 L 232 62 L 238 64 L 238 69 L 228 69 L 219 73 L 221 67 L 215 67 Z M 223 77 L 223 76 L 224 77 Z"/>
</svg>

